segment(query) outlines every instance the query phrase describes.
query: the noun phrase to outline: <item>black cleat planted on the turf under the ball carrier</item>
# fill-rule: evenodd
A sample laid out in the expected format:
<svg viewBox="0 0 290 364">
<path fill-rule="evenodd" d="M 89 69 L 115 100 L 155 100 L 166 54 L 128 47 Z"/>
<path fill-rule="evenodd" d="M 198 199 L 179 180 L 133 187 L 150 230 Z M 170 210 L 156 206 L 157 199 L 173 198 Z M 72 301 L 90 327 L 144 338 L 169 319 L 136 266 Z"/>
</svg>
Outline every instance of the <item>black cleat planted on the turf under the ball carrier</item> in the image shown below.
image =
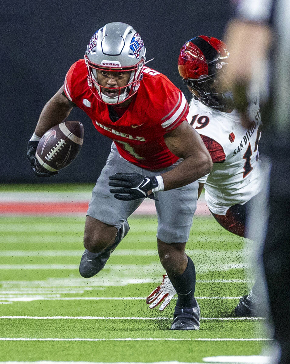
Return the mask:
<svg viewBox="0 0 290 364">
<path fill-rule="evenodd" d="M 175 306 L 170 330 L 199 330 L 200 308 Z"/>
</svg>

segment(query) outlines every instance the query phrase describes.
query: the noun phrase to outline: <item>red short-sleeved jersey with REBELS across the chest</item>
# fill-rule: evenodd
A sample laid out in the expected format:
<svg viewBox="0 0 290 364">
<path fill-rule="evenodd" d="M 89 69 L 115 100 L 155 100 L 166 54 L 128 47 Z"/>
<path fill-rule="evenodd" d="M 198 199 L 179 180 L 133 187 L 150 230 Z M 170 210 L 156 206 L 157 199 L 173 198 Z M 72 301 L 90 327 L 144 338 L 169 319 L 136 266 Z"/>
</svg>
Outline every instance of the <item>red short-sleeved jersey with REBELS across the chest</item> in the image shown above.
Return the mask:
<svg viewBox="0 0 290 364">
<path fill-rule="evenodd" d="M 186 120 L 188 104 L 166 76 L 144 67 L 138 91 L 115 122 L 108 105 L 92 94 L 87 76 L 84 60 L 74 63 L 65 76 L 65 95 L 86 112 L 101 134 L 114 140 L 123 158 L 149 170 L 166 168 L 178 160 L 167 148 L 164 135 Z"/>
</svg>

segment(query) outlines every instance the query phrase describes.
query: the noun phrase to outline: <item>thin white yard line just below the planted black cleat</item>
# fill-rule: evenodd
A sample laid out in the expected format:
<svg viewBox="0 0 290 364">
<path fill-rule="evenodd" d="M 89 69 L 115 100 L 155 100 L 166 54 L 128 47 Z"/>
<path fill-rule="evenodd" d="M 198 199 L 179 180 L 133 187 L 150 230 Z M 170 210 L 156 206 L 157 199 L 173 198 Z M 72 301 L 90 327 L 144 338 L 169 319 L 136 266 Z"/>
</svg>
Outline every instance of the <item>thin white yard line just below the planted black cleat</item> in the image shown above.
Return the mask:
<svg viewBox="0 0 290 364">
<path fill-rule="evenodd" d="M 83 338 L 83 337 L 74 337 L 71 339 L 68 338 L 60 338 L 60 337 L 0 337 L 1 341 L 271 341 L 272 339 L 266 339 L 264 337 L 257 337 L 257 338 L 184 338 L 184 339 L 175 339 L 172 337 L 118 337 L 114 339 L 90 339 L 90 338 Z"/>
</svg>

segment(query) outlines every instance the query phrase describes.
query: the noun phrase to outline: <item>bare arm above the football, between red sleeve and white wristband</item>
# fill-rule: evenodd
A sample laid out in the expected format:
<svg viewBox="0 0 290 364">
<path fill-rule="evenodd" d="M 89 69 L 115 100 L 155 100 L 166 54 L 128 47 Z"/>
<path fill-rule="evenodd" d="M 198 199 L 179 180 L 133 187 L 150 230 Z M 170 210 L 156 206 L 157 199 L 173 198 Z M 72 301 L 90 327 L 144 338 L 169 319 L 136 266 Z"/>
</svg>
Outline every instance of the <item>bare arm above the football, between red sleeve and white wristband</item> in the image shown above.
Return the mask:
<svg viewBox="0 0 290 364">
<path fill-rule="evenodd" d="M 41 111 L 34 131 L 38 137 L 42 137 L 48 129 L 63 122 L 71 112 L 71 102 L 62 94 L 63 91 L 64 87 L 61 86 Z"/>
</svg>

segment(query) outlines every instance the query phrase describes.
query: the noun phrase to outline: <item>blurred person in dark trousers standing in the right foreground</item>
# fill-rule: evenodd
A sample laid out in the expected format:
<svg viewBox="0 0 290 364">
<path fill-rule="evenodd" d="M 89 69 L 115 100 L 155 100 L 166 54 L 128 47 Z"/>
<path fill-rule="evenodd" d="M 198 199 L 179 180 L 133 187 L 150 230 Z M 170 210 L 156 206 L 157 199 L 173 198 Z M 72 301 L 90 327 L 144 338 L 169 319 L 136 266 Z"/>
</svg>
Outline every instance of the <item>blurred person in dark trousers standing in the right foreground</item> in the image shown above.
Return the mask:
<svg viewBox="0 0 290 364">
<path fill-rule="evenodd" d="M 246 91 L 251 82 L 260 83 L 266 101 L 262 109 L 265 132 L 259 148 L 270 178 L 266 199 L 264 196 L 260 201 L 266 200 L 271 218 L 260 234 L 264 244 L 262 265 L 274 338 L 280 346 L 278 362 L 286 364 L 290 363 L 290 2 L 238 1 L 226 41 L 231 50 L 228 81 L 244 122 L 249 120 Z M 266 175 L 264 181 L 267 185 Z M 266 210 L 265 202 L 254 208 Z M 255 218 L 259 227 L 262 213 L 249 216 L 251 222 Z"/>
</svg>

